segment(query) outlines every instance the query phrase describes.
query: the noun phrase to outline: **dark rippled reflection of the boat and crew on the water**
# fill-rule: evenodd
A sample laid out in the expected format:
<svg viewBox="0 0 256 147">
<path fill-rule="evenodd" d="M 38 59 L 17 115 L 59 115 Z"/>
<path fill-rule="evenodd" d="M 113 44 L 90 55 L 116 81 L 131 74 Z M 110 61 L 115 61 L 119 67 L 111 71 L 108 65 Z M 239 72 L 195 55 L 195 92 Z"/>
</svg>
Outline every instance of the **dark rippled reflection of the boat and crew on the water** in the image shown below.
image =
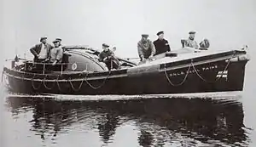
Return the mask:
<svg viewBox="0 0 256 147">
<path fill-rule="evenodd" d="M 236 100 L 71 101 L 23 97 L 7 100 L 14 115 L 33 110 L 32 120 L 28 122 L 41 139 L 55 138 L 79 126 L 84 133 L 86 130 L 98 132 L 103 144 L 110 144 L 115 141 L 117 128 L 129 124 L 137 128 L 137 144 L 127 143 L 127 146 L 248 144 L 242 105 Z"/>
</svg>

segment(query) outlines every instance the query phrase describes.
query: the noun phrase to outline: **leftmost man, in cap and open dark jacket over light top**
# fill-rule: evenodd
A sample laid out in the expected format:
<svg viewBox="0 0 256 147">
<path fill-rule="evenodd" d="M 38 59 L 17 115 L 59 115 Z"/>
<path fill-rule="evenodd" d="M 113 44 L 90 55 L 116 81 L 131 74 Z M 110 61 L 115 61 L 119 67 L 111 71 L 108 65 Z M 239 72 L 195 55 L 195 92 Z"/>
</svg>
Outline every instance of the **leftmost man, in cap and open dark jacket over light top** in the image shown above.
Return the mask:
<svg viewBox="0 0 256 147">
<path fill-rule="evenodd" d="M 41 37 L 39 44 L 30 48 L 30 52 L 34 55 L 34 62 L 43 62 L 49 57 L 49 51 L 53 48 L 47 43 L 47 37 Z"/>
</svg>

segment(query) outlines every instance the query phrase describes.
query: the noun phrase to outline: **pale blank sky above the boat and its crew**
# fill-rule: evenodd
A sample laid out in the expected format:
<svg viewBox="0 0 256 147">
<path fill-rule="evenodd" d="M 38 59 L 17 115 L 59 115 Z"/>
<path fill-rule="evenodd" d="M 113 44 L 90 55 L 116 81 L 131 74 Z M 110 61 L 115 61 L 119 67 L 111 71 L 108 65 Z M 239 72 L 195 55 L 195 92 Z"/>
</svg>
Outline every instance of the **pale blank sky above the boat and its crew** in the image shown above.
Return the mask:
<svg viewBox="0 0 256 147">
<path fill-rule="evenodd" d="M 142 33 L 154 41 L 165 31 L 172 49 L 189 31 L 196 41 L 208 38 L 211 49 L 254 46 L 254 0 L 2 0 L 1 50 L 3 58 L 31 56 L 29 48 L 40 37 L 62 38 L 63 45 L 102 43 L 116 46 L 121 57 L 137 57 Z"/>
</svg>

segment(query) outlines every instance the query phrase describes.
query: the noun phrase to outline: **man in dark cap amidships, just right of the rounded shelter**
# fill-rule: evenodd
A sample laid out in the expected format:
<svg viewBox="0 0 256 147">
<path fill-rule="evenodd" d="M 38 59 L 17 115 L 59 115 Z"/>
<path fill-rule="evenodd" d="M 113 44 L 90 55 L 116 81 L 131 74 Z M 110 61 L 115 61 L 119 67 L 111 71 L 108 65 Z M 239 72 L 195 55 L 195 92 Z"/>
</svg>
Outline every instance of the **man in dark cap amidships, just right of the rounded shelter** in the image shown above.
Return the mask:
<svg viewBox="0 0 256 147">
<path fill-rule="evenodd" d="M 108 71 L 111 71 L 112 68 L 119 69 L 119 59 L 114 56 L 113 51 L 109 49 L 109 45 L 103 43 L 102 48 L 103 51 L 99 54 L 99 61 L 107 65 Z"/>
</svg>

